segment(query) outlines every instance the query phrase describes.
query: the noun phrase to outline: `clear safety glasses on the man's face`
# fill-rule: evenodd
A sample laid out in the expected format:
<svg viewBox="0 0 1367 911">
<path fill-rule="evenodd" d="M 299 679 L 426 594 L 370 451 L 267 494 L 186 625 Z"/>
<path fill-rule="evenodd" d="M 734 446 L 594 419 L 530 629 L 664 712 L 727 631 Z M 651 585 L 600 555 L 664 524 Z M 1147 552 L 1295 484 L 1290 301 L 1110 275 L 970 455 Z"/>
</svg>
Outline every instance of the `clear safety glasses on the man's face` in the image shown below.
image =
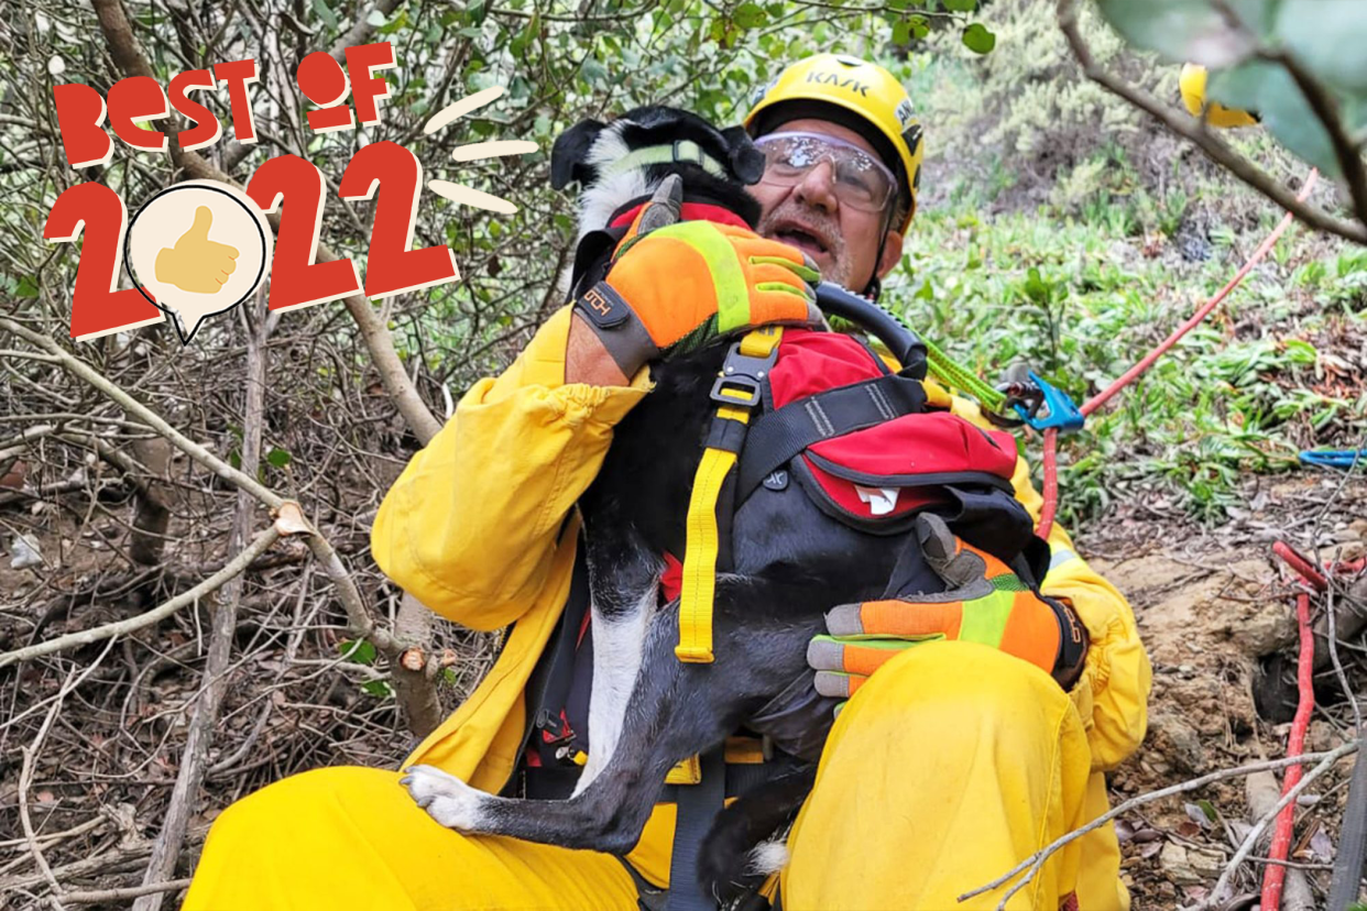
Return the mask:
<svg viewBox="0 0 1367 911">
<path fill-rule="evenodd" d="M 828 161 L 835 198 L 858 212 L 882 212 L 897 193 L 897 178 L 858 146 L 820 132 L 770 132 L 755 141 L 764 153 L 760 183 L 791 187 Z"/>
</svg>

